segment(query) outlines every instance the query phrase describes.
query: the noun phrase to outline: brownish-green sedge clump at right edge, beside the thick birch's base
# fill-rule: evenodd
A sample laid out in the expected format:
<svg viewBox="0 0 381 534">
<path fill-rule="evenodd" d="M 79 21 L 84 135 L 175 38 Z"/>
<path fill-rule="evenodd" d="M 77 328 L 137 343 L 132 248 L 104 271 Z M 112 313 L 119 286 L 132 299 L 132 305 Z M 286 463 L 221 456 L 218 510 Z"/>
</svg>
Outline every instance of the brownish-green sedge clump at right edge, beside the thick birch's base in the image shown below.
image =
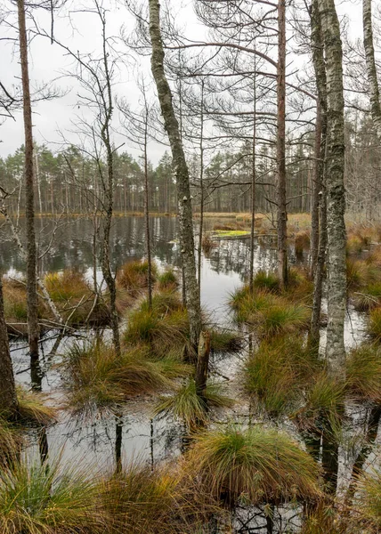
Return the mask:
<svg viewBox="0 0 381 534">
<path fill-rule="evenodd" d="M 381 349 L 362 344 L 346 360 L 347 391 L 356 399 L 381 402 Z"/>
</svg>

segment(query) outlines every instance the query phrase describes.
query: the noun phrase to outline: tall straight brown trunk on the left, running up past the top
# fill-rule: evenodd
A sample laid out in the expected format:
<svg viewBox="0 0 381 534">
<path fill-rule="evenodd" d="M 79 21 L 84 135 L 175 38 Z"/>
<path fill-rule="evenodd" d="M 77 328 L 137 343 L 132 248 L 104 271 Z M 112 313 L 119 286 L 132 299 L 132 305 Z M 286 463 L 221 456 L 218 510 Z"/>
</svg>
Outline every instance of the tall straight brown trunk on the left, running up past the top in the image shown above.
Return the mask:
<svg viewBox="0 0 381 534">
<path fill-rule="evenodd" d="M 36 282 L 36 231 L 35 231 L 35 173 L 33 166 L 32 107 L 30 103 L 28 73 L 28 42 L 25 23 L 24 0 L 18 0 L 20 63 L 22 80 L 22 103 L 25 135 L 25 215 L 27 233 L 27 304 L 28 304 L 28 344 L 30 360 L 38 360 L 38 310 Z"/>
</svg>

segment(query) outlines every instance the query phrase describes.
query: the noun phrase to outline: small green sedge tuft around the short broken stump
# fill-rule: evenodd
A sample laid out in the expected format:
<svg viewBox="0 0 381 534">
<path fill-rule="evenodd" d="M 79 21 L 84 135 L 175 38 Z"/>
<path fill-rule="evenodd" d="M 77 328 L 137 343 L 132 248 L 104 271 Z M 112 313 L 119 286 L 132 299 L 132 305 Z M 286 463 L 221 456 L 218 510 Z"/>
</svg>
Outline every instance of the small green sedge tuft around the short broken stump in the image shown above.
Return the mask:
<svg viewBox="0 0 381 534">
<path fill-rule="evenodd" d="M 155 413 L 170 415 L 177 421 L 182 421 L 190 432 L 199 425 L 205 425 L 208 420 L 208 409 L 231 408 L 234 404 L 229 397 L 222 394 L 220 384 L 207 384 L 201 399 L 196 390 L 196 384 L 190 379 L 186 384 L 174 392 L 173 395 L 163 397 L 155 409 Z"/>
</svg>

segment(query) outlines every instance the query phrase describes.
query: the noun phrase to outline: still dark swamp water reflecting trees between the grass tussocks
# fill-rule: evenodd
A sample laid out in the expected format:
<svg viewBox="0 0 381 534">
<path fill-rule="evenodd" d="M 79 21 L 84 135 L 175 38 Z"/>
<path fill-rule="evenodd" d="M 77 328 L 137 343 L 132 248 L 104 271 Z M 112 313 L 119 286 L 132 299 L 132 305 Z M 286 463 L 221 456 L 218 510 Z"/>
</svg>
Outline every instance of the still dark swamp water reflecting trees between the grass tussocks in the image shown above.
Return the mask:
<svg viewBox="0 0 381 534">
<path fill-rule="evenodd" d="M 206 231 L 215 220 L 206 220 Z M 229 223 L 229 221 L 226 221 Z M 39 226 L 39 250 L 47 247 L 53 231 L 53 221 L 42 218 L 36 221 Z M 152 253 L 160 268 L 166 266 L 180 267 L 180 248 L 177 241 L 177 220 L 174 217 L 151 217 Z M 198 231 L 197 225 L 195 231 Z M 3 228 L 3 232 L 4 228 Z M 0 270 L 8 276 L 17 276 L 25 269 L 20 261 L 17 249 L 12 239 L 2 237 L 0 248 Z M 110 256 L 113 268 L 129 260 L 140 259 L 145 253 L 144 220 L 142 217 L 118 217 L 114 220 L 110 236 Z M 272 270 L 276 265 L 276 248 L 272 239 L 259 238 L 255 242 L 255 271 Z M 289 250 L 291 263 L 296 263 L 293 249 Z M 304 257 L 304 261 L 305 261 Z M 303 260 L 298 258 L 297 263 Z M 40 270 L 61 271 L 63 269 L 78 269 L 92 277 L 93 263 L 93 226 L 86 219 L 69 219 L 56 230 L 53 246 L 44 255 Z M 211 320 L 226 328 L 236 328 L 231 325 L 230 309 L 227 305 L 229 295 L 239 287 L 247 277 L 249 264 L 249 239 L 220 240 L 208 255 L 202 256 L 201 274 L 201 303 Z M 101 273 L 99 273 L 101 278 Z M 360 344 L 364 339 L 365 316 L 348 311 L 345 321 L 345 343 L 347 347 Z M 78 332 L 79 336 L 91 336 L 89 332 Z M 243 333 L 243 336 L 245 334 Z M 322 337 L 324 339 L 323 330 Z M 73 338 L 65 337 L 61 340 L 56 355 L 51 358 L 50 352 L 57 336 L 53 332 L 45 335 L 41 344 L 41 389 L 49 395 L 53 404 L 60 405 L 62 400 L 61 375 L 57 364 L 60 353 L 68 349 Z M 25 340 L 12 342 L 12 360 L 17 381 L 30 385 L 30 368 L 28 347 Z M 212 373 L 220 380 L 229 379 L 233 392 L 237 373 L 242 360 L 246 357 L 246 350 L 237 355 L 213 354 L 211 358 Z M 230 392 L 231 394 L 231 392 Z M 182 449 L 184 429 L 178 422 L 168 418 L 152 418 L 152 400 L 137 399 L 131 401 L 124 409 L 122 416 L 97 417 L 95 420 L 80 420 L 70 417 L 61 410 L 57 424 L 49 426 L 46 431 L 37 433 L 30 431 L 31 455 L 37 455 L 38 450 L 45 450 L 49 455 L 61 455 L 63 464 L 66 462 L 85 465 L 95 471 L 110 471 L 115 468 L 116 458 L 120 457 L 122 465 L 132 461 L 148 461 L 156 465 L 164 458 L 178 455 Z M 245 423 L 248 417 L 247 405 L 238 403 L 227 417 L 240 423 Z M 356 417 L 356 416 L 355 416 Z M 364 417 L 360 414 L 359 419 Z M 226 417 L 225 417 L 226 418 Z M 359 423 L 361 425 L 361 422 Z M 289 429 L 288 429 L 289 430 Z M 47 445 L 46 445 L 47 441 Z M 353 455 L 341 455 L 339 474 L 342 480 L 351 473 Z M 272 510 L 273 530 L 269 530 L 269 516 L 266 511 L 258 508 L 243 507 L 235 512 L 234 529 L 236 532 L 297 532 L 300 526 L 300 507 L 296 510 Z"/>
</svg>

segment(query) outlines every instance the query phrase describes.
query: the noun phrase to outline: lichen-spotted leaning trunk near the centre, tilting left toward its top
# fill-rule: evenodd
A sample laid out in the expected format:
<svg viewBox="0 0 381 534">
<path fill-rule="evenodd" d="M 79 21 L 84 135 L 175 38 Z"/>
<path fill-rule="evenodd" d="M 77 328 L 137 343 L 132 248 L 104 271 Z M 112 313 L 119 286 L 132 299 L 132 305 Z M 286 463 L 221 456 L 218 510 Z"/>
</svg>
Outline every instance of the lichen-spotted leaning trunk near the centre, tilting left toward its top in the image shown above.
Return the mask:
<svg viewBox="0 0 381 534">
<path fill-rule="evenodd" d="M 150 4 L 150 40 L 152 46 L 151 69 L 158 89 L 158 100 L 164 118 L 166 133 L 172 150 L 176 173 L 177 198 L 179 208 L 180 245 L 182 249 L 182 266 L 185 283 L 187 310 L 190 321 L 190 343 L 197 351 L 201 331 L 201 307 L 199 287 L 196 276 L 194 255 L 194 237 L 192 210 L 190 200 L 190 180 L 185 160 L 180 129 L 174 114 L 172 93 L 164 70 L 164 49 L 161 40 L 158 0 L 149 0 Z"/>
</svg>

